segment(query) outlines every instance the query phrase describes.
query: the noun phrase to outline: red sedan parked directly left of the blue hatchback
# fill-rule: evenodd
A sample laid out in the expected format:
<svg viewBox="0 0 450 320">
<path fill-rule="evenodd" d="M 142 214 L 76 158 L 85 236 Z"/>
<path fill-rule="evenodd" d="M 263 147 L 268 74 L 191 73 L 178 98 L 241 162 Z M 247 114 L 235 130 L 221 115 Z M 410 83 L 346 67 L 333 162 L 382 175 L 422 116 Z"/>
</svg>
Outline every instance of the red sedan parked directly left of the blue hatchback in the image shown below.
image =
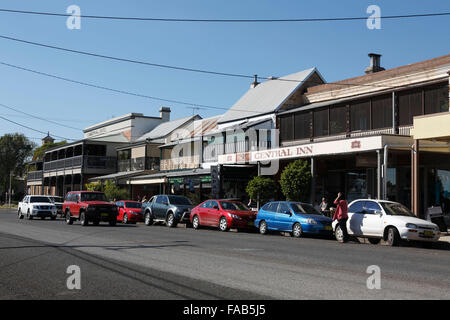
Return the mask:
<svg viewBox="0 0 450 320">
<path fill-rule="evenodd" d="M 191 211 L 192 227 L 218 227 L 221 231 L 230 228 L 247 229 L 254 226 L 256 212 L 239 201 L 207 200 Z"/>
</svg>

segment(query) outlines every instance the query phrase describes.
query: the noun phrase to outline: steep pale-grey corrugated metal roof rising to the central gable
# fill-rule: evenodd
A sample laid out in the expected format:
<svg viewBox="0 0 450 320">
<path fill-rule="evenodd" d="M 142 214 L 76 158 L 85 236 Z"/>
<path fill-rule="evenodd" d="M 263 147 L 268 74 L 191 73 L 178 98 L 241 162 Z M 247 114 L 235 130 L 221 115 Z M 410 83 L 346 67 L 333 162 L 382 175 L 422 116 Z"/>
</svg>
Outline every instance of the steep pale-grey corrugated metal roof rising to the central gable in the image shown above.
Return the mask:
<svg viewBox="0 0 450 320">
<path fill-rule="evenodd" d="M 276 111 L 315 72 L 316 68 L 267 80 L 251 88 L 219 120 L 219 123 L 251 118 Z"/>
</svg>

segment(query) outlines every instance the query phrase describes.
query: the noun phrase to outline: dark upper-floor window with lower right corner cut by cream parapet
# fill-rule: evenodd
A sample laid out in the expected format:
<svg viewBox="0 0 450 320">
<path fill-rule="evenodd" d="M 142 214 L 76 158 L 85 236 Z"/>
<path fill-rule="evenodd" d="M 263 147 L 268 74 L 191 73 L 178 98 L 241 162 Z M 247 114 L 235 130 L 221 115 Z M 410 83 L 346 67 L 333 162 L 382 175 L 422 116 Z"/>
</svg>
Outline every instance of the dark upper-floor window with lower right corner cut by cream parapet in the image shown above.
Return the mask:
<svg viewBox="0 0 450 320">
<path fill-rule="evenodd" d="M 422 115 L 422 90 L 399 92 L 398 113 L 401 126 L 412 125 L 413 117 Z"/>
</svg>

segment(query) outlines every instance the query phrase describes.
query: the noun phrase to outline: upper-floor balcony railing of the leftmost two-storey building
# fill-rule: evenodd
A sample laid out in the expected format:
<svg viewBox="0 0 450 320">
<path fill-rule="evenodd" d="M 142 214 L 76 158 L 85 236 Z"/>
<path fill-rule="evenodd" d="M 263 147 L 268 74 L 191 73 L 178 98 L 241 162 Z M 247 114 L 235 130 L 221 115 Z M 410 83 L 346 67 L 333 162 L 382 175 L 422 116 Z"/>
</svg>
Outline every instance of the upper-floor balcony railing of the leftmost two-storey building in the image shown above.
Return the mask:
<svg viewBox="0 0 450 320">
<path fill-rule="evenodd" d="M 116 167 L 115 157 L 102 156 L 76 156 L 72 158 L 44 162 L 44 170 L 63 170 L 74 168 L 88 169 L 114 169 Z"/>
</svg>

